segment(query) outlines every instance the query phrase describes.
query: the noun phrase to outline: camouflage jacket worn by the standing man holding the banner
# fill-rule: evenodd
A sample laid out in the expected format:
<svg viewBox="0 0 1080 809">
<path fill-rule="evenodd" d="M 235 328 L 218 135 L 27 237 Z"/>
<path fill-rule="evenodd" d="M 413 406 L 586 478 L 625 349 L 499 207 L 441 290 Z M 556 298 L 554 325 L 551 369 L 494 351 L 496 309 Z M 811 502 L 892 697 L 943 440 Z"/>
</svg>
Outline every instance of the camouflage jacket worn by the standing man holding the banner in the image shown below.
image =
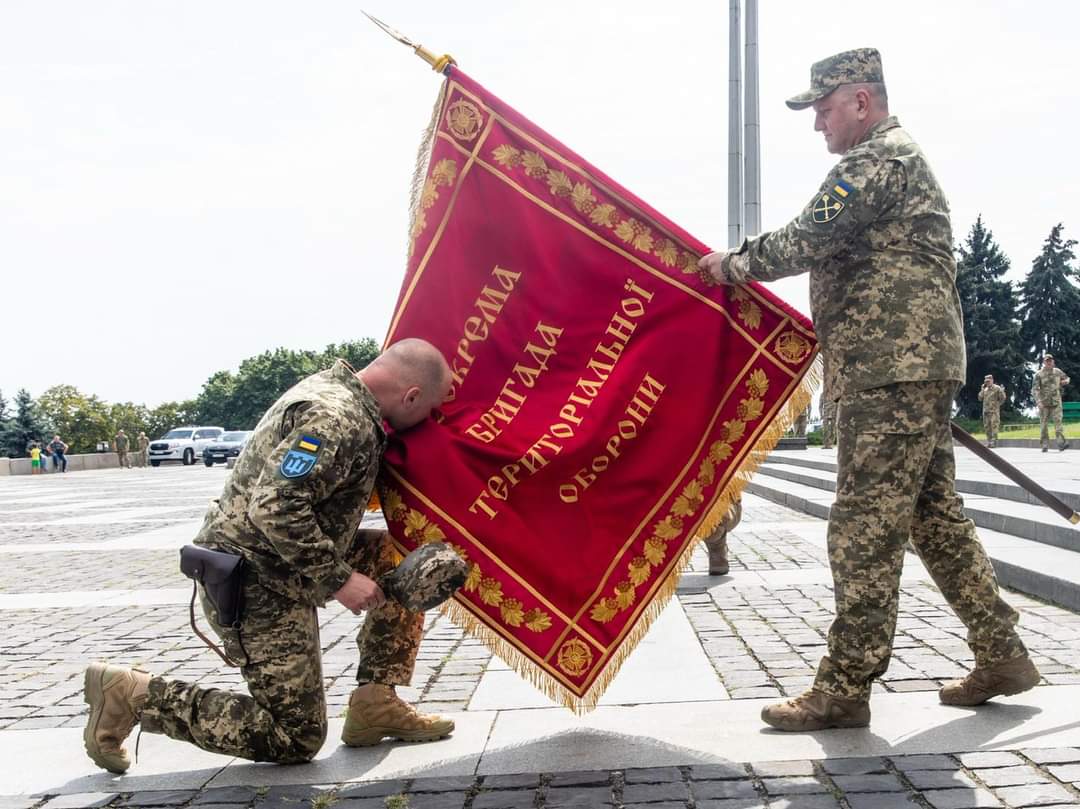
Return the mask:
<svg viewBox="0 0 1080 809">
<path fill-rule="evenodd" d="M 948 202 L 895 118 L 843 154 L 799 216 L 723 267 L 732 283 L 802 272 L 829 395 L 964 378 Z"/>
</svg>

